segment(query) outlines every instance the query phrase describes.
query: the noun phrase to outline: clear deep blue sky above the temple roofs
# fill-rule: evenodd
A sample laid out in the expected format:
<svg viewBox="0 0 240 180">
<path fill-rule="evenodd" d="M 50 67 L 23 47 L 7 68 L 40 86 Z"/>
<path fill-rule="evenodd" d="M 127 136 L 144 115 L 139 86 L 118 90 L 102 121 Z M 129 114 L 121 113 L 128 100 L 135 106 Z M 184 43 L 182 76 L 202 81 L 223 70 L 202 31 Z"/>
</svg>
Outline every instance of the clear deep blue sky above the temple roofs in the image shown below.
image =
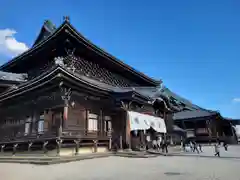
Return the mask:
<svg viewBox="0 0 240 180">
<path fill-rule="evenodd" d="M 44 20 L 60 25 L 69 15 L 125 63 L 199 106 L 240 118 L 239 8 L 239 0 L 2 0 L 0 30 L 16 31 L 12 43 L 30 47 Z M 1 63 L 10 59 L 5 50 Z"/>
</svg>

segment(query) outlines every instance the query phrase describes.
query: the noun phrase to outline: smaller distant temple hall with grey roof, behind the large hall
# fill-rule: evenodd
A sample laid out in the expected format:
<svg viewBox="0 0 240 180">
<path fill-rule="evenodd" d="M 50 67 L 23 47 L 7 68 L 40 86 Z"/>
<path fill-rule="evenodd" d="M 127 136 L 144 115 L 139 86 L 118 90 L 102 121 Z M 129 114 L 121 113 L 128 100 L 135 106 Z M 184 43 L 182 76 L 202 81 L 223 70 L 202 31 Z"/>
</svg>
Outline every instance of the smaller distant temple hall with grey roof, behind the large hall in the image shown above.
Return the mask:
<svg viewBox="0 0 240 180">
<path fill-rule="evenodd" d="M 218 111 L 199 107 L 166 87 L 162 87 L 161 94 L 168 98 L 174 110 L 174 126 L 185 130 L 186 138 L 202 143 L 217 140 L 237 142 L 231 121 L 227 121 Z"/>
</svg>

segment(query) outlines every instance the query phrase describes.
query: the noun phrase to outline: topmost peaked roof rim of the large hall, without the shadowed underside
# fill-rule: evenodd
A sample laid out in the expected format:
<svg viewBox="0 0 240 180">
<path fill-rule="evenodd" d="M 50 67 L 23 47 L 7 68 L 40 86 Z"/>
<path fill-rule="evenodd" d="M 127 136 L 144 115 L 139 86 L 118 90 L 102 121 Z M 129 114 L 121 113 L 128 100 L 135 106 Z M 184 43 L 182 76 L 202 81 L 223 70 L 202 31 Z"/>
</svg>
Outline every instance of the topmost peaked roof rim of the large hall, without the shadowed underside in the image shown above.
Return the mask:
<svg viewBox="0 0 240 180">
<path fill-rule="evenodd" d="M 22 53 L 21 55 L 15 57 L 11 61 L 3 64 L 0 67 L 0 70 L 3 71 L 11 71 L 11 67 L 16 66 L 20 60 L 27 59 L 29 55 L 33 52 L 37 52 L 40 50 L 48 41 L 51 41 L 55 37 L 57 37 L 60 32 L 68 33 L 71 37 L 78 40 L 79 43 L 83 44 L 86 49 L 92 51 L 93 53 L 96 53 L 99 57 L 102 57 L 108 64 L 112 64 L 112 66 L 115 67 L 115 69 L 122 69 L 123 72 L 128 73 L 132 77 L 138 78 L 143 80 L 144 82 L 147 82 L 147 84 L 151 86 L 158 86 L 161 84 L 161 80 L 155 80 L 153 78 L 150 78 L 149 76 L 143 74 L 142 72 L 139 72 L 138 70 L 130 67 L 129 65 L 125 64 L 121 60 L 117 59 L 116 57 L 112 56 L 111 54 L 107 53 L 103 49 L 97 47 L 94 45 L 91 41 L 86 39 L 82 34 L 80 34 L 71 24 L 68 20 L 65 20 L 58 28 L 55 29 L 55 27 L 49 23 L 49 21 L 44 23 L 41 32 L 36 39 L 34 46 L 30 48 L 28 51 Z"/>
</svg>

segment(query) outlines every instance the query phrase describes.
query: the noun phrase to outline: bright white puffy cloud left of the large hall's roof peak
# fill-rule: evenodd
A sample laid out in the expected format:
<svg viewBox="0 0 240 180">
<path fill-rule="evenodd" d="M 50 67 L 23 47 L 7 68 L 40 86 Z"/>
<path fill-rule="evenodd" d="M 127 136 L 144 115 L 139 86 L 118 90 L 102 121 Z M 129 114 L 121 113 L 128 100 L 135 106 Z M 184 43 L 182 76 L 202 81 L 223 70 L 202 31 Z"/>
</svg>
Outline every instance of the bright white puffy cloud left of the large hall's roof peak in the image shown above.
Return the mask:
<svg viewBox="0 0 240 180">
<path fill-rule="evenodd" d="M 13 29 L 0 29 L 0 54 L 13 57 L 28 50 L 25 43 L 15 39 L 16 33 Z"/>
</svg>

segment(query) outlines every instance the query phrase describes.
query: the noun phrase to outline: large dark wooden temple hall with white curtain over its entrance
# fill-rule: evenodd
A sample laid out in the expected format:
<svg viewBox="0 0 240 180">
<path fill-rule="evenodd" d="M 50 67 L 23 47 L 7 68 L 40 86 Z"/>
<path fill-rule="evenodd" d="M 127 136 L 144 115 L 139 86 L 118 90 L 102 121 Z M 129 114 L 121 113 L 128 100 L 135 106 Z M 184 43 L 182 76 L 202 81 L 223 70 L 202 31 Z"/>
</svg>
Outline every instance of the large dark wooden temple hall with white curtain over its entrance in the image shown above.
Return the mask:
<svg viewBox="0 0 240 180">
<path fill-rule="evenodd" d="M 69 17 L 59 27 L 46 21 L 33 46 L 0 67 L 1 152 L 74 155 L 144 145 L 146 133 L 173 128 L 161 83 L 91 43 Z"/>
</svg>

